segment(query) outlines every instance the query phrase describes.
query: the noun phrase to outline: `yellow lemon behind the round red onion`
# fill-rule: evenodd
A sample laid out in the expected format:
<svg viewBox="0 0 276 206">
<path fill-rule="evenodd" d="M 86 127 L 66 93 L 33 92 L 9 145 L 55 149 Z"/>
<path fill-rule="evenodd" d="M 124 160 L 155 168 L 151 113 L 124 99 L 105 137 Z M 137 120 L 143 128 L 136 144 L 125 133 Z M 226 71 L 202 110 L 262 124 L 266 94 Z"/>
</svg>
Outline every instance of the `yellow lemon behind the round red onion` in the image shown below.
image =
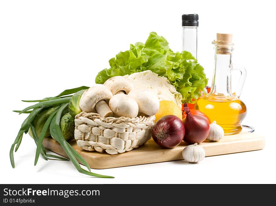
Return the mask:
<svg viewBox="0 0 276 206">
<path fill-rule="evenodd" d="M 155 114 L 155 122 L 157 122 L 158 119 L 166 116 L 166 115 L 175 115 L 182 119 L 182 111 L 181 107 L 179 107 L 176 103 L 169 100 L 162 100 L 160 101 L 160 106 L 158 112 Z"/>
</svg>

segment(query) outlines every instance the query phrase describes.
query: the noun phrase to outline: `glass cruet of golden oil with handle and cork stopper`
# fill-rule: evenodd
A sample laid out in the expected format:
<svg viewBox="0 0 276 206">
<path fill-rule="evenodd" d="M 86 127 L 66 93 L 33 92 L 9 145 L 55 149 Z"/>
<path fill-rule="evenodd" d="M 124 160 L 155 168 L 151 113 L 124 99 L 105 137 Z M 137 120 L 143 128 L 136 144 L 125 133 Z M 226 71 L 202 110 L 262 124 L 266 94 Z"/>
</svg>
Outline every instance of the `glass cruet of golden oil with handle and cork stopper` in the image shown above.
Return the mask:
<svg viewBox="0 0 276 206">
<path fill-rule="evenodd" d="M 241 121 L 246 116 L 246 106 L 240 100 L 241 90 L 246 77 L 242 66 L 232 65 L 232 34 L 217 33 L 215 45 L 215 69 L 210 92 L 200 98 L 195 109 L 206 114 L 211 122 L 216 121 L 225 135 L 241 132 Z M 235 92 L 231 88 L 231 76 L 234 70 L 240 72 L 240 79 Z"/>
</svg>

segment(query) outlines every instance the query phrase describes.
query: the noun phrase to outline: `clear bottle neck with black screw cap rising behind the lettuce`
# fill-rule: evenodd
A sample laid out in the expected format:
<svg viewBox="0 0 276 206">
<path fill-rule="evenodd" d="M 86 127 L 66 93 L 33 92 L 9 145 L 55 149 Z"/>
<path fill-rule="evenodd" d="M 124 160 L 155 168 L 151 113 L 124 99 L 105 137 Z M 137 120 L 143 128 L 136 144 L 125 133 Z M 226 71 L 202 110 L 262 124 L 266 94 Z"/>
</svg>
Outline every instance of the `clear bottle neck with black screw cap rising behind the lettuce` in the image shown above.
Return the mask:
<svg viewBox="0 0 276 206">
<path fill-rule="evenodd" d="M 190 52 L 197 59 L 198 14 L 182 15 L 182 50 Z"/>
</svg>

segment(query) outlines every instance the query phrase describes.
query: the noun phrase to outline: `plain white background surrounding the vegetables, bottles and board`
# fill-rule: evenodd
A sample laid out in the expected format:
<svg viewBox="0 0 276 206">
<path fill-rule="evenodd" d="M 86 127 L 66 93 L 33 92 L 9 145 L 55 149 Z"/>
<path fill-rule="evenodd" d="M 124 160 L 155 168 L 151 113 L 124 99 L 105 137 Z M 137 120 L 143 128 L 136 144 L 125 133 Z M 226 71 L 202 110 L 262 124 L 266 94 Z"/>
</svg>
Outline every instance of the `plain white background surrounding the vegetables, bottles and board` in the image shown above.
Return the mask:
<svg viewBox="0 0 276 206">
<path fill-rule="evenodd" d="M 273 1 L 1 1 L 1 183 L 276 183 L 275 179 L 275 7 Z M 233 62 L 247 69 L 241 99 L 244 124 L 266 137 L 261 151 L 206 157 L 198 164 L 172 161 L 93 172 L 90 178 L 70 162 L 34 166 L 35 144 L 25 135 L 9 149 L 29 106 L 22 99 L 57 95 L 66 88 L 93 86 L 98 71 L 130 43 L 149 32 L 181 50 L 181 15 L 199 14 L 199 63 L 212 78 L 216 33 L 232 33 Z"/>
</svg>

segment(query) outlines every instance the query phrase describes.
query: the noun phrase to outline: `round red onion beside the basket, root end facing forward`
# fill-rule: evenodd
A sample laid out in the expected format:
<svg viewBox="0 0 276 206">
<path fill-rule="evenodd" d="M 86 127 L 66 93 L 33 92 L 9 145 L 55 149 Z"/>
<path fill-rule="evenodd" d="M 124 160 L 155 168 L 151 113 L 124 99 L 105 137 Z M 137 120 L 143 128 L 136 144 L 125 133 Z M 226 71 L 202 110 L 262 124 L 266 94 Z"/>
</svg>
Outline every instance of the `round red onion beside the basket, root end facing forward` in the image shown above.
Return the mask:
<svg viewBox="0 0 276 206">
<path fill-rule="evenodd" d="M 166 115 L 153 125 L 151 135 L 157 145 L 173 148 L 182 142 L 185 129 L 181 119 L 177 116 Z"/>
</svg>

